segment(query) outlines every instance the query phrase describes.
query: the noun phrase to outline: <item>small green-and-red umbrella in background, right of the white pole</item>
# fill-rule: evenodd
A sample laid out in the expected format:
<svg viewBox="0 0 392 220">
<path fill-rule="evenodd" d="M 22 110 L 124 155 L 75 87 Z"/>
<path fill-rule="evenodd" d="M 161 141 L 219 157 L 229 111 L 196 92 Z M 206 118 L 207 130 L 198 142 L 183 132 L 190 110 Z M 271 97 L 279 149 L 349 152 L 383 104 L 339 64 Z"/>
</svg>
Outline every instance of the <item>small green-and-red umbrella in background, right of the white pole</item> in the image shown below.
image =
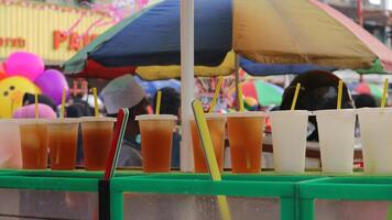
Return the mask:
<svg viewBox="0 0 392 220">
<path fill-rule="evenodd" d="M 253 97 L 260 106 L 281 105 L 283 88 L 263 80 L 251 80 L 242 84 L 244 97 Z"/>
</svg>

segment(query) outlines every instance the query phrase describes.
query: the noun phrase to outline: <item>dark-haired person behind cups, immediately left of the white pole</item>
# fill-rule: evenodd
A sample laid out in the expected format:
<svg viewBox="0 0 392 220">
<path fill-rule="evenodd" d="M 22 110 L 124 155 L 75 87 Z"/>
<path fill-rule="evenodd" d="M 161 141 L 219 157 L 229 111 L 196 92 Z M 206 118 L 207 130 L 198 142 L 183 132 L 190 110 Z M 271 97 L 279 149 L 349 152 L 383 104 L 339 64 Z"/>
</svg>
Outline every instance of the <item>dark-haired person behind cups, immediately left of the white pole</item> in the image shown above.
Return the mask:
<svg viewBox="0 0 392 220">
<path fill-rule="evenodd" d="M 165 87 L 161 89 L 161 114 L 173 114 L 178 117 L 179 123 L 179 107 L 181 107 L 181 96 L 174 88 Z M 156 95 L 154 97 L 154 109 L 156 106 Z M 181 135 L 178 132 L 173 133 L 173 144 L 172 144 L 172 167 L 179 167 L 179 142 Z"/>
</svg>

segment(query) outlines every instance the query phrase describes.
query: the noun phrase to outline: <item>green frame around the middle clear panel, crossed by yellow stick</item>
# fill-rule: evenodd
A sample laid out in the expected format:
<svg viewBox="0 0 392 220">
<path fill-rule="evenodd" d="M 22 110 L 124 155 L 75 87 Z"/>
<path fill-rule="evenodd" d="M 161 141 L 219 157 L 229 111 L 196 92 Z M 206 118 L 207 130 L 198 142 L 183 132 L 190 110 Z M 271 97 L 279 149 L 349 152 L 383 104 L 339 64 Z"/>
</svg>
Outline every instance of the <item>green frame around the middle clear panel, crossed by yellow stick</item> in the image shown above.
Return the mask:
<svg viewBox="0 0 392 220">
<path fill-rule="evenodd" d="M 110 215 L 112 220 L 123 219 L 123 194 L 226 195 L 238 197 L 280 198 L 281 219 L 295 220 L 297 212 L 297 184 L 318 178 L 312 175 L 222 175 L 221 182 L 210 180 L 207 174 L 153 174 L 116 177 L 110 182 Z"/>
</svg>

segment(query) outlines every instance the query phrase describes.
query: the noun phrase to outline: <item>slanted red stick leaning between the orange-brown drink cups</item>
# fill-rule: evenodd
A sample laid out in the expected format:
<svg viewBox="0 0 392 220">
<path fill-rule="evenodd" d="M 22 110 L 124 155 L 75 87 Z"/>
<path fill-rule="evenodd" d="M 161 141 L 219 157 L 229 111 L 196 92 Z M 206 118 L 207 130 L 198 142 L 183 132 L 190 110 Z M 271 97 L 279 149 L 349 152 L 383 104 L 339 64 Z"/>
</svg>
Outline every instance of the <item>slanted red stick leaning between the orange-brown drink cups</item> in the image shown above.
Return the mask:
<svg viewBox="0 0 392 220">
<path fill-rule="evenodd" d="M 120 141 L 121 127 L 122 127 L 122 123 L 123 123 L 123 119 L 124 119 L 124 111 L 123 111 L 123 109 L 120 109 L 119 113 L 117 116 L 116 130 L 115 130 L 113 139 L 111 141 L 111 147 L 110 147 L 110 151 L 109 151 L 108 162 L 107 162 L 106 167 L 105 167 L 105 179 L 109 179 L 111 177 L 112 172 L 113 172 L 112 166 L 113 166 L 113 163 L 115 163 L 115 156 L 116 156 L 116 152 L 117 152 L 117 144 Z"/>
</svg>

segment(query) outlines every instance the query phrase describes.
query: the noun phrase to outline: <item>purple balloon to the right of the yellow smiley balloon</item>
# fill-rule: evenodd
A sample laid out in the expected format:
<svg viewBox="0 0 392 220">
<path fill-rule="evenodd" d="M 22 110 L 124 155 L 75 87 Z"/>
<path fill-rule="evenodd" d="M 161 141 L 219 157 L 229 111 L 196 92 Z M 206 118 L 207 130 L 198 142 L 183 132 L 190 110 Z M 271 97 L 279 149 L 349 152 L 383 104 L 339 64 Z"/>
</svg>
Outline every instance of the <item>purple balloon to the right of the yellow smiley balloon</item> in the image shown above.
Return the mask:
<svg viewBox="0 0 392 220">
<path fill-rule="evenodd" d="M 56 105 L 62 103 L 64 89 L 66 97 L 69 96 L 69 86 L 64 75 L 56 69 L 47 69 L 35 79 L 35 85 L 40 87 L 43 95 L 51 97 Z"/>
</svg>

